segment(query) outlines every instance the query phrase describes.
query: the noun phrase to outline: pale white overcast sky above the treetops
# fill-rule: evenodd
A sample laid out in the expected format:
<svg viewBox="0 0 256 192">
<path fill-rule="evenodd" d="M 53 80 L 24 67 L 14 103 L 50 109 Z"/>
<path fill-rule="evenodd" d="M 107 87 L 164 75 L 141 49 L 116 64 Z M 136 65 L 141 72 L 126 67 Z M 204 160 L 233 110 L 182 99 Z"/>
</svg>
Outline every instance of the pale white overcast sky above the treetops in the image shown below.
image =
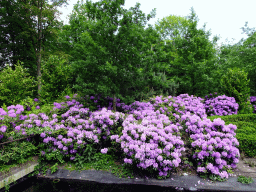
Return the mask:
<svg viewBox="0 0 256 192">
<path fill-rule="evenodd" d="M 73 5 L 78 0 L 68 0 L 67 7 L 59 7 L 58 10 L 63 14 L 60 15 L 60 20 L 64 24 L 68 24 L 69 15 L 73 10 Z M 99 0 L 92 0 L 98 2 Z M 81 2 L 81 1 L 80 1 Z M 86 0 L 83 1 L 86 3 Z M 242 38 L 247 39 L 248 36 L 240 29 L 244 27 L 245 22 L 250 28 L 256 27 L 256 0 L 126 0 L 124 8 L 129 9 L 134 7 L 136 2 L 140 3 L 140 10 L 146 15 L 152 9 L 156 8 L 156 16 L 149 20 L 149 24 L 155 25 L 155 22 L 169 15 L 176 15 L 186 17 L 191 13 L 191 7 L 194 8 L 198 18 L 197 28 L 203 28 L 206 23 L 205 30 L 211 32 L 209 39 L 217 35 L 220 40 L 217 42 L 218 46 L 223 44 L 238 43 Z M 226 42 L 226 39 L 228 41 Z M 234 38 L 234 40 L 232 39 Z"/>
</svg>

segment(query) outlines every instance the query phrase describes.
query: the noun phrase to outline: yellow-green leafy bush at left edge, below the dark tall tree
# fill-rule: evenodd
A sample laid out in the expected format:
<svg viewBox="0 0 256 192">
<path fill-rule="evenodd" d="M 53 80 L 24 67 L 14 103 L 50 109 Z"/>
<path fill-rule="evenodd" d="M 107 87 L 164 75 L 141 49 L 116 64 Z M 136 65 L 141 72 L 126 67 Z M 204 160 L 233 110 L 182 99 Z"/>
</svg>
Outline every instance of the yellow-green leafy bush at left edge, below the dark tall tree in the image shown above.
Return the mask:
<svg viewBox="0 0 256 192">
<path fill-rule="evenodd" d="M 21 62 L 21 64 L 23 64 Z M 10 66 L 0 72 L 0 106 L 18 104 L 36 91 L 37 81 L 29 76 L 19 61 L 12 70 Z"/>
</svg>

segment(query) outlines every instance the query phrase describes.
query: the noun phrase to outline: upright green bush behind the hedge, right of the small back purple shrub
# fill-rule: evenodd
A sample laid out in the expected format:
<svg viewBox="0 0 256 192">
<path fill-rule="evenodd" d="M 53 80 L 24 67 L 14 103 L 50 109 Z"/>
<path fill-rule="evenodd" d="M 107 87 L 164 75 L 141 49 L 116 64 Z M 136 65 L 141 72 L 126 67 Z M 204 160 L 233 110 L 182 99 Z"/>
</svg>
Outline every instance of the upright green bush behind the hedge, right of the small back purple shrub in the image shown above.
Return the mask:
<svg viewBox="0 0 256 192">
<path fill-rule="evenodd" d="M 250 88 L 247 80 L 248 73 L 239 68 L 229 69 L 227 74 L 221 79 L 222 91 L 229 97 L 234 97 L 239 104 L 239 114 L 249 114 L 253 112 L 250 104 Z"/>
</svg>

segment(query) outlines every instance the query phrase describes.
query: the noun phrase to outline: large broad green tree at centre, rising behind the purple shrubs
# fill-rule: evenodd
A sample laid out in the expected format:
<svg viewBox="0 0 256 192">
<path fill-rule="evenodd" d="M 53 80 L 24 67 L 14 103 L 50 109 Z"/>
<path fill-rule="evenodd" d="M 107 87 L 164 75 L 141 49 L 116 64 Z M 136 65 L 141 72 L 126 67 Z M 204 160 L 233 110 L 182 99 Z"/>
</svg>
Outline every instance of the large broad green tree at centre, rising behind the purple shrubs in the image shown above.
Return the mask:
<svg viewBox="0 0 256 192">
<path fill-rule="evenodd" d="M 114 110 L 116 97 L 133 102 L 144 90 L 147 80 L 143 79 L 153 71 L 143 60 L 150 57 L 151 44 L 160 41 L 152 26 L 144 29 L 155 12 L 146 17 L 139 10 L 140 4 L 130 10 L 123 9 L 122 4 L 117 0 L 75 5 L 70 25 L 64 26 L 61 37 L 70 47 L 68 54 L 77 74 L 74 87 L 87 95 L 112 95 Z M 132 87 L 139 90 L 129 92 Z"/>
</svg>

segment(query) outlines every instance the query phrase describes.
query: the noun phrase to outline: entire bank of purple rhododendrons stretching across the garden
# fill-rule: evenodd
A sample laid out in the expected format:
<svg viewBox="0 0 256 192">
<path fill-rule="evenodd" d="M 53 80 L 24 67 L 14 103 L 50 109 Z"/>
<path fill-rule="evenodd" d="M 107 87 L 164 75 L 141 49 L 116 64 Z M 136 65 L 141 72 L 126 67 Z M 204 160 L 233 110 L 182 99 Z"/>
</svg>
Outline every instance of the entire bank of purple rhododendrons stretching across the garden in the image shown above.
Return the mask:
<svg viewBox="0 0 256 192">
<path fill-rule="evenodd" d="M 97 103 L 100 97 L 90 99 Z M 2 119 L 9 115 L 24 120 L 14 126 L 16 133 L 25 135 L 32 127 L 51 130 L 40 134 L 41 142 L 48 148 L 41 151 L 41 158 L 60 152 L 66 161 L 76 161 L 77 158 L 86 161 L 89 145 L 93 144 L 101 153 L 109 153 L 113 146 L 118 146 L 124 164 L 148 170 L 160 178 L 168 177 L 179 167 L 185 145 L 192 148 L 191 158 L 196 162 L 199 175 L 227 179 L 228 170 L 238 163 L 236 126 L 225 126 L 221 119 L 211 122 L 206 118 L 207 112 L 236 113 L 237 104 L 232 98 L 218 96 L 204 104 L 202 98 L 182 94 L 157 96 L 131 105 L 117 99 L 118 112 L 111 111 L 113 99 L 109 98 L 108 106 L 98 105 L 95 111 L 83 108 L 83 104 L 69 96 L 66 100 L 54 103 L 51 116 L 44 113 L 23 116 L 21 106 L 9 107 L 9 112 L 1 109 L 0 115 Z M 208 108 L 209 105 L 213 110 Z M 2 138 L 7 137 L 6 130 L 7 124 L 0 129 Z"/>
</svg>

